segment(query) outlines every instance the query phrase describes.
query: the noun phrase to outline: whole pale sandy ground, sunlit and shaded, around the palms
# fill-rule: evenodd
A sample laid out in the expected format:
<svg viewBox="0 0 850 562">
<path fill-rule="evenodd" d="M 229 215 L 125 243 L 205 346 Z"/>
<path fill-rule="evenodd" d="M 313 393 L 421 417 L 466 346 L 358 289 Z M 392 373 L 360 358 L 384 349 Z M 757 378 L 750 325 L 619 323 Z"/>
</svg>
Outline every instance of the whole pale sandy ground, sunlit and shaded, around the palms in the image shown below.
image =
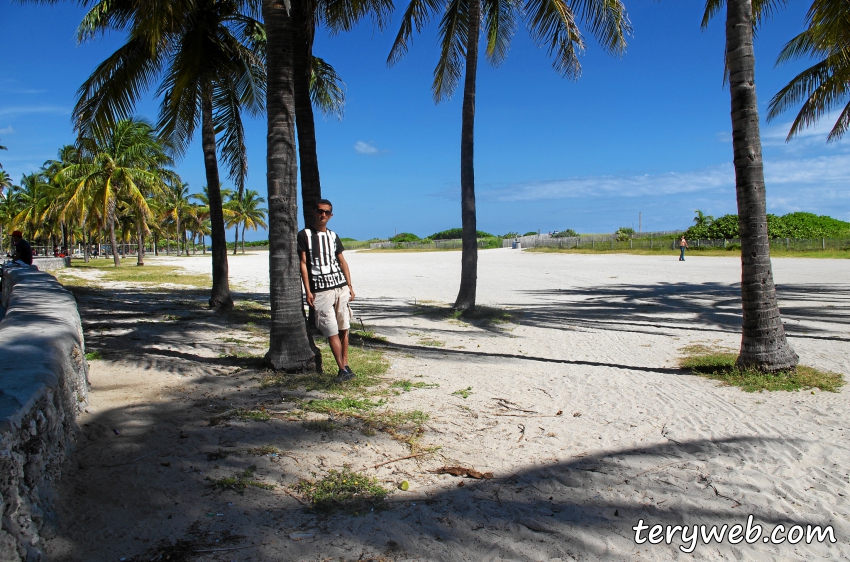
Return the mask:
<svg viewBox="0 0 850 562">
<path fill-rule="evenodd" d="M 406 446 L 287 419 L 291 396 L 259 388 L 255 360 L 222 357 L 262 334 L 204 310 L 203 293 L 79 291 L 87 344 L 104 359 L 91 364 L 51 559 L 165 560 L 177 552 L 168 545 L 189 543 L 197 559 L 240 561 L 850 558 L 850 390 L 747 394 L 677 368 L 686 345 L 737 348 L 736 258 L 483 251 L 478 302 L 517 320 L 471 325 L 421 313 L 453 300 L 459 252 L 346 255 L 358 324 L 391 344 L 388 376 L 439 385 L 389 404 L 429 413 L 422 445 L 439 454 L 372 469 Z M 267 299 L 267 260 L 230 258 L 243 298 Z M 209 271 L 202 257 L 151 263 Z M 846 260 L 774 260 L 804 364 L 850 373 L 848 273 Z M 281 415 L 209 425 L 221 408 L 257 404 Z M 283 454 L 246 452 L 266 444 Z M 332 517 L 285 490 L 346 463 L 410 490 L 387 510 Z M 429 472 L 446 464 L 495 478 Z M 249 465 L 277 487 L 239 495 L 206 481 Z M 632 529 L 641 519 L 731 527 L 748 515 L 765 532 L 832 525 L 837 542 L 759 538 L 685 554 L 678 535 L 636 544 Z"/>
</svg>

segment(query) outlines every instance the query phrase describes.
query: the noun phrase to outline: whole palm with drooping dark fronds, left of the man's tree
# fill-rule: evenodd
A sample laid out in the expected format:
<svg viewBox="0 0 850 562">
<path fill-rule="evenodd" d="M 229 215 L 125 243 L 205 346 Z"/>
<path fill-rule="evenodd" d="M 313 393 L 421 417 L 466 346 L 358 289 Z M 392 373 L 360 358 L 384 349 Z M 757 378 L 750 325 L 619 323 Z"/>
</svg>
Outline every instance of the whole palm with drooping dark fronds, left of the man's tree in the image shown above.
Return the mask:
<svg viewBox="0 0 850 562">
<path fill-rule="evenodd" d="M 78 124 L 87 132 L 127 117 L 139 96 L 162 77 L 157 128 L 178 156 L 195 128 L 201 128 L 207 185 L 212 186 L 209 304 L 231 308 L 217 148 L 241 191 L 248 172 L 241 112 L 259 115 L 265 95 L 263 61 L 248 46 L 257 25 L 257 1 L 81 1 L 94 6 L 80 25 L 80 39 L 113 29 L 126 30 L 129 37 L 80 88 Z"/>
</svg>

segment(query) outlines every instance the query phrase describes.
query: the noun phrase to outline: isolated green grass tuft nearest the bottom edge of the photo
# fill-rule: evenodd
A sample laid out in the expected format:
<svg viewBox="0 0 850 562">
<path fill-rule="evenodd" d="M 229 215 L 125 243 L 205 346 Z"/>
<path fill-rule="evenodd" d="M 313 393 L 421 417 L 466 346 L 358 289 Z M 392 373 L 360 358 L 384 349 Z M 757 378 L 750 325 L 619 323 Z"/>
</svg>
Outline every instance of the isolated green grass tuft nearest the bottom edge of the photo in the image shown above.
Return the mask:
<svg viewBox="0 0 850 562">
<path fill-rule="evenodd" d="M 349 465 L 344 465 L 342 470 L 329 470 L 321 480 L 301 480 L 293 490 L 316 511 L 345 511 L 354 515 L 379 506 L 390 493 L 377 478 L 354 472 Z"/>
</svg>

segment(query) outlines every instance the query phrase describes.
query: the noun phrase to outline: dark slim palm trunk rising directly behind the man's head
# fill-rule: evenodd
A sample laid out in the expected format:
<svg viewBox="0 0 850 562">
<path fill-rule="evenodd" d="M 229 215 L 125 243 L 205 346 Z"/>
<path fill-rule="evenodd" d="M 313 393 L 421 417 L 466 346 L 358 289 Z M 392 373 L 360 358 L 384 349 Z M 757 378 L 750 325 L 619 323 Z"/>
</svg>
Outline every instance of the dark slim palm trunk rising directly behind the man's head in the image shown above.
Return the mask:
<svg viewBox="0 0 850 562">
<path fill-rule="evenodd" d="M 298 159 L 301 163 L 301 203 L 304 225 L 313 225 L 313 212 L 322 198 L 319 180 L 319 159 L 316 154 L 316 124 L 313 103 L 310 101 L 310 77 L 313 66 L 313 36 L 315 20 L 312 6 L 292 3 L 293 69 L 295 79 L 295 123 L 298 133 Z"/>
</svg>

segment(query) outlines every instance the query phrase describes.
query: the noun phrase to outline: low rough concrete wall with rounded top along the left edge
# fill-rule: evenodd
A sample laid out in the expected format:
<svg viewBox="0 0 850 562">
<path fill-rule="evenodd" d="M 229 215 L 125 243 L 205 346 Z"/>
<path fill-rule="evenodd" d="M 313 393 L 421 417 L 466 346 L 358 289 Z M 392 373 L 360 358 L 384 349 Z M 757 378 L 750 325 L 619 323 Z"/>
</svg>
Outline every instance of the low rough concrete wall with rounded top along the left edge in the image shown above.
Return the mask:
<svg viewBox="0 0 850 562">
<path fill-rule="evenodd" d="M 40 561 L 52 494 L 88 399 L 77 303 L 49 273 L 3 272 L 0 560 Z"/>
</svg>

